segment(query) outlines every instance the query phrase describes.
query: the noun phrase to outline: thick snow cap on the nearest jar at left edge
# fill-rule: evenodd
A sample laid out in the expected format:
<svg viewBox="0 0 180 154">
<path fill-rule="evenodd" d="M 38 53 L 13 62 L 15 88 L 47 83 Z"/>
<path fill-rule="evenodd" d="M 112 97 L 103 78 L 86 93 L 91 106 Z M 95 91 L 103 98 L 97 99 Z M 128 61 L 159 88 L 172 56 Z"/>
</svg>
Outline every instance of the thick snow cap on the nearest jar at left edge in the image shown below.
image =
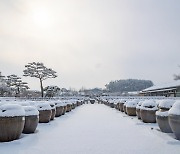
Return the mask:
<svg viewBox="0 0 180 154">
<path fill-rule="evenodd" d="M 4 104 L 0 106 L 0 117 L 25 116 L 25 111 L 18 104 Z"/>
</svg>

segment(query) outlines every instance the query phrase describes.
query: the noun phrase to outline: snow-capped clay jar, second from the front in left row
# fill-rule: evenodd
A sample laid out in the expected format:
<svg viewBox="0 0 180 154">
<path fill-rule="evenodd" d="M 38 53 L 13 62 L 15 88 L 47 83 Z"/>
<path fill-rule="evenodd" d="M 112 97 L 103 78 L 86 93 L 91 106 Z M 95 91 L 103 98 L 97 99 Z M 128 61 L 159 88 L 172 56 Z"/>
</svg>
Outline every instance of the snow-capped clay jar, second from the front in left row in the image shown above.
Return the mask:
<svg viewBox="0 0 180 154">
<path fill-rule="evenodd" d="M 25 124 L 23 133 L 34 133 L 39 122 L 39 111 L 34 106 L 24 106 L 25 110 Z"/>
</svg>

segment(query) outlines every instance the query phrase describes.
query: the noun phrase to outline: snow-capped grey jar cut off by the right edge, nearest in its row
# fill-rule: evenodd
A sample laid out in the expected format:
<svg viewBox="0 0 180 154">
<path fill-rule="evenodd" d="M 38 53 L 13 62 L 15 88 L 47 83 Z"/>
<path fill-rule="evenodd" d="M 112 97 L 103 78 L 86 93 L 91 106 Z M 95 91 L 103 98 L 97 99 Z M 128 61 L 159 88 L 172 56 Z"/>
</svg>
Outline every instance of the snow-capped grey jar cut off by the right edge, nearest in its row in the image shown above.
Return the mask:
<svg viewBox="0 0 180 154">
<path fill-rule="evenodd" d="M 180 101 L 176 101 L 168 112 L 169 125 L 175 134 L 176 138 L 180 140 Z"/>
</svg>

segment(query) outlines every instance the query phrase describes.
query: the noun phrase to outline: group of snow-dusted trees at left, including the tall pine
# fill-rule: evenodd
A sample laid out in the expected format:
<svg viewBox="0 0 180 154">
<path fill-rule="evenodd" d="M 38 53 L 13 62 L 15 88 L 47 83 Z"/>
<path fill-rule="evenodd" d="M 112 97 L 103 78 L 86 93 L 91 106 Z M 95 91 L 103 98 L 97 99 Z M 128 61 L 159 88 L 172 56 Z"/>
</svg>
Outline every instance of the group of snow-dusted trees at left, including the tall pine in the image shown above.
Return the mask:
<svg viewBox="0 0 180 154">
<path fill-rule="evenodd" d="M 55 93 L 60 90 L 57 86 L 43 87 L 44 80 L 57 77 L 57 72 L 51 68 L 47 68 L 43 63 L 28 63 L 23 70 L 23 76 L 39 79 L 41 97 L 44 97 L 44 92 L 46 93 L 46 96 L 53 97 Z M 15 74 L 3 76 L 0 72 L 0 96 L 20 97 L 20 95 L 26 93 L 28 89 L 30 89 L 28 83 L 23 82 L 21 77 Z"/>
</svg>

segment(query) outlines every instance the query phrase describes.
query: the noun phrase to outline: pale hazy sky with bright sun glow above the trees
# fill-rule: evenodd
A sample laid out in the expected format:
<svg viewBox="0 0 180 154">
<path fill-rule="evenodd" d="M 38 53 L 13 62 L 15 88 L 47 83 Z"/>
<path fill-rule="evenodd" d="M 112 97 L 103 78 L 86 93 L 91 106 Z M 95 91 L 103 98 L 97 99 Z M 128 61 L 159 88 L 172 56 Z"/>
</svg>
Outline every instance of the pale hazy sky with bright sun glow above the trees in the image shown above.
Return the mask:
<svg viewBox="0 0 180 154">
<path fill-rule="evenodd" d="M 22 76 L 33 61 L 58 72 L 45 86 L 171 82 L 180 72 L 180 0 L 0 0 L 0 71 Z"/>
</svg>

